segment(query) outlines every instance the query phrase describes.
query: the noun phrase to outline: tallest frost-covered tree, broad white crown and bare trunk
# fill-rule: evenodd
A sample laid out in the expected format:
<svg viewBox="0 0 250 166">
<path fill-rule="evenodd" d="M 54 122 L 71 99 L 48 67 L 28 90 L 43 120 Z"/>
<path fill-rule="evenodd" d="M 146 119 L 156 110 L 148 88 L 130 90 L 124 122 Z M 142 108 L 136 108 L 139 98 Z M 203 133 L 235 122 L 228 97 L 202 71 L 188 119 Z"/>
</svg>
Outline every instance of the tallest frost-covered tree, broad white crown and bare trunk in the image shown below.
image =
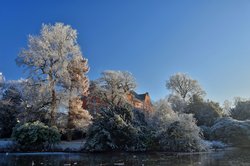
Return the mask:
<svg viewBox="0 0 250 166">
<path fill-rule="evenodd" d="M 69 83 L 69 63 L 81 57 L 77 44 L 77 31 L 69 25 L 56 23 L 42 25 L 38 36 L 30 35 L 28 48 L 22 49 L 16 59 L 19 66 L 29 71 L 29 78 L 46 91 L 50 105 L 50 124 L 55 124 L 60 93 L 64 84 Z"/>
</svg>

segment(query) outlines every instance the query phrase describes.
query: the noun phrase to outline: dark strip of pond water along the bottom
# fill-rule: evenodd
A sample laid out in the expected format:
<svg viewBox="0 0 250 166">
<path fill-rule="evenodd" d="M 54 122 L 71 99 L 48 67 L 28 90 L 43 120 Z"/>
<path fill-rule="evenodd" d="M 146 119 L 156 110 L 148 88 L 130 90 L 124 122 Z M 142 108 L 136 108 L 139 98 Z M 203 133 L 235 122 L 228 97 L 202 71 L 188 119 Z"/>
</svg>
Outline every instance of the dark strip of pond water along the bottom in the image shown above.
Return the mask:
<svg viewBox="0 0 250 166">
<path fill-rule="evenodd" d="M 250 166 L 250 149 L 231 149 L 201 154 L 167 153 L 9 153 L 0 154 L 1 166 L 77 165 L 170 165 L 170 166 Z"/>
</svg>

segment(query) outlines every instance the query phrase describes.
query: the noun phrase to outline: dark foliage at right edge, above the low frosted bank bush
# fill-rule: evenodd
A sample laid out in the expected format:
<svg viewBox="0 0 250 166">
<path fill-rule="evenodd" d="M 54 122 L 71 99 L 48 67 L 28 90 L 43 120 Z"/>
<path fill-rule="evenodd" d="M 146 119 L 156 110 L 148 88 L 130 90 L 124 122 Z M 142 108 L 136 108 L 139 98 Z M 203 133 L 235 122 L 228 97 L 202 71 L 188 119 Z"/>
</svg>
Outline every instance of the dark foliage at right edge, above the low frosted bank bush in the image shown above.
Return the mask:
<svg viewBox="0 0 250 166">
<path fill-rule="evenodd" d="M 250 100 L 238 101 L 231 110 L 231 117 L 237 120 L 250 119 Z"/>
</svg>

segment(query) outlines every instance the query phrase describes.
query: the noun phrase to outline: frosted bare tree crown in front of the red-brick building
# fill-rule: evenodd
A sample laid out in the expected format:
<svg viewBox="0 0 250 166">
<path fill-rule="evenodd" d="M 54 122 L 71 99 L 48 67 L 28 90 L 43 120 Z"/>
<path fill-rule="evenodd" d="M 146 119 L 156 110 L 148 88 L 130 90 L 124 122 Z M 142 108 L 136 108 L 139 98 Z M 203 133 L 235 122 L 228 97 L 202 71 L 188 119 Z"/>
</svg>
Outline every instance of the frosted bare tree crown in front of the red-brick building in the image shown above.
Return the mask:
<svg viewBox="0 0 250 166">
<path fill-rule="evenodd" d="M 104 71 L 99 79 L 90 85 L 89 106 L 92 110 L 103 107 L 121 106 L 128 102 L 127 94 L 136 87 L 131 73 L 125 71 Z"/>
</svg>

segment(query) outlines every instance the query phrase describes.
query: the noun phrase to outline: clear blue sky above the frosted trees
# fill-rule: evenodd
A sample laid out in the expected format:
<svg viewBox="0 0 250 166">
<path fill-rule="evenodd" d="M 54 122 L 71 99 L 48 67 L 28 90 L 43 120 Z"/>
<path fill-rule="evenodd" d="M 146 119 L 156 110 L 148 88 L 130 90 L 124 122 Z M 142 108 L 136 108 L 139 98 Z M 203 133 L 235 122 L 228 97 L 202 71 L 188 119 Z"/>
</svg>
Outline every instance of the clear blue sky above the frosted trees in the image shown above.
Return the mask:
<svg viewBox="0 0 250 166">
<path fill-rule="evenodd" d="M 154 100 L 176 72 L 197 79 L 207 98 L 250 97 L 250 1 L 247 0 L 2 0 L 0 72 L 23 77 L 15 58 L 42 23 L 79 32 L 90 79 L 127 70 Z"/>
</svg>

